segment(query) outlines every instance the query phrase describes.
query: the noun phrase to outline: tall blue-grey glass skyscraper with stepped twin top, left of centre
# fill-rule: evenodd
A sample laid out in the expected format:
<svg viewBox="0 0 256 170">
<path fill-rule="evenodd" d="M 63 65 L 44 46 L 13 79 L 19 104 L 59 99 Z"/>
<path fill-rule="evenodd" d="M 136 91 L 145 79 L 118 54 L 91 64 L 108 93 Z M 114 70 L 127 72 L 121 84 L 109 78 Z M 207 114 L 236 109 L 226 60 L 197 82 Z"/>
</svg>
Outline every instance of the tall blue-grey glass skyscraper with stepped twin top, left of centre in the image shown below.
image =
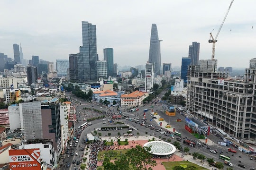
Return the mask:
<svg viewBox="0 0 256 170">
<path fill-rule="evenodd" d="M 77 56 L 79 82 L 97 80 L 96 61 L 96 26 L 82 21 L 82 46 L 80 46 L 80 53 Z"/>
</svg>

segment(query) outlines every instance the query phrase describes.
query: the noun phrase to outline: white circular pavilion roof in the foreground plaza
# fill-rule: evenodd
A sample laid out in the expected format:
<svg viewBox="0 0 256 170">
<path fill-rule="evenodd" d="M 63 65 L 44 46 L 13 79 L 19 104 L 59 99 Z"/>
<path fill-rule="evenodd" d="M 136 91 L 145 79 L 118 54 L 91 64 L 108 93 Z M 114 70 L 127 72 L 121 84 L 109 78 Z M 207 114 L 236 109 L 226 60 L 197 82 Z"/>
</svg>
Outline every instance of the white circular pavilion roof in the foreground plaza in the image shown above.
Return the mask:
<svg viewBox="0 0 256 170">
<path fill-rule="evenodd" d="M 173 144 L 164 141 L 151 141 L 144 144 L 144 147 L 151 146 L 151 153 L 155 155 L 170 155 L 176 151 Z"/>
</svg>

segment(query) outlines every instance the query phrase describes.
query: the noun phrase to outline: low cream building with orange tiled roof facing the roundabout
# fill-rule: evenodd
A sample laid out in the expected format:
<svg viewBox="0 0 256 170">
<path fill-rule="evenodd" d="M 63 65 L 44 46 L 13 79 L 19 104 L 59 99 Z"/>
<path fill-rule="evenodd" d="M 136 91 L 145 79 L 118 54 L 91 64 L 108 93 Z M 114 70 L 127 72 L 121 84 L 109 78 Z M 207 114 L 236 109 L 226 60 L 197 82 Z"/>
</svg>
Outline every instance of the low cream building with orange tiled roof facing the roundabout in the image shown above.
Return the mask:
<svg viewBox="0 0 256 170">
<path fill-rule="evenodd" d="M 135 91 L 129 94 L 121 95 L 121 106 L 139 106 L 146 98 L 146 93 L 141 91 Z"/>
</svg>

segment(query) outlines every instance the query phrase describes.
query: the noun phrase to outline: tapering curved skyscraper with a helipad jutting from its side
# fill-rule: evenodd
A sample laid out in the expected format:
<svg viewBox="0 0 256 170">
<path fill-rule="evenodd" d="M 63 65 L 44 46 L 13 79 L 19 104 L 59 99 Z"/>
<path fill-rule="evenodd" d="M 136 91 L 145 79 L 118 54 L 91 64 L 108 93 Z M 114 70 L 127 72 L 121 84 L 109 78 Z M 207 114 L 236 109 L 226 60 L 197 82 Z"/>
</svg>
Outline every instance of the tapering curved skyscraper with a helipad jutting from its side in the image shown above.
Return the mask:
<svg viewBox="0 0 256 170">
<path fill-rule="evenodd" d="M 152 24 L 148 61 L 154 64 L 155 76 L 160 75 L 161 51 L 156 24 Z"/>
</svg>

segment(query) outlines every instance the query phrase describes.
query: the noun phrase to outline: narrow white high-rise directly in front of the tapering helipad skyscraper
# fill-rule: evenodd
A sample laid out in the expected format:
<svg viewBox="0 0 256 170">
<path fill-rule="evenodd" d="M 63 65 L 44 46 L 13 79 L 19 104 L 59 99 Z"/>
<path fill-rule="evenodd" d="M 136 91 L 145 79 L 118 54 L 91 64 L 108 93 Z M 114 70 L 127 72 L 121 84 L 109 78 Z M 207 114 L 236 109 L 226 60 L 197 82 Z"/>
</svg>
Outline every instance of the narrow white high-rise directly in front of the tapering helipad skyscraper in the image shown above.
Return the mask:
<svg viewBox="0 0 256 170">
<path fill-rule="evenodd" d="M 154 64 L 147 62 L 145 70 L 145 92 L 152 93 L 151 88 L 154 85 Z"/>
</svg>

